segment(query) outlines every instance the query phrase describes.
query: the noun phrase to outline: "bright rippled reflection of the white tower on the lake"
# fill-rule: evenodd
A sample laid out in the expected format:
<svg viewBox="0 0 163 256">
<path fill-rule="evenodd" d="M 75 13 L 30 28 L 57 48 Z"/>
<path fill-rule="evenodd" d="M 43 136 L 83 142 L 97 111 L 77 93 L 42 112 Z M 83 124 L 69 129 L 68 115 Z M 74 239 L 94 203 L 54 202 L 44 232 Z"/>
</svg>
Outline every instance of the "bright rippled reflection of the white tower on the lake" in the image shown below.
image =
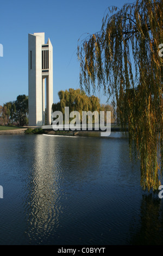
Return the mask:
<svg viewBox="0 0 163 256">
<path fill-rule="evenodd" d="M 48 140 L 45 150 L 46 143 L 45 136 L 36 136 L 33 172 L 30 178 L 27 234 L 30 240 L 36 241 L 49 236 L 51 231 L 58 227 L 61 211 L 59 176 L 58 169 L 55 168 L 55 162 L 60 162 L 59 154 L 55 154 L 57 145 L 54 139 Z"/>
</svg>

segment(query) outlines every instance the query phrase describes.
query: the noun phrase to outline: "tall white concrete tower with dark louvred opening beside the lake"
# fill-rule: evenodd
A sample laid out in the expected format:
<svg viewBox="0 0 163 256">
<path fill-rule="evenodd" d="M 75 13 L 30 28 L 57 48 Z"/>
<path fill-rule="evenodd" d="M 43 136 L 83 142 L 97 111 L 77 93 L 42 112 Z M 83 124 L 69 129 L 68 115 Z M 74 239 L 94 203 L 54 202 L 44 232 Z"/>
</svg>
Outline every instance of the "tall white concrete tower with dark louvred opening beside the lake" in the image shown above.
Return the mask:
<svg viewBox="0 0 163 256">
<path fill-rule="evenodd" d="M 53 104 L 53 46 L 50 39 L 45 44 L 45 33 L 28 34 L 28 111 L 29 126 L 52 122 Z"/>
</svg>

